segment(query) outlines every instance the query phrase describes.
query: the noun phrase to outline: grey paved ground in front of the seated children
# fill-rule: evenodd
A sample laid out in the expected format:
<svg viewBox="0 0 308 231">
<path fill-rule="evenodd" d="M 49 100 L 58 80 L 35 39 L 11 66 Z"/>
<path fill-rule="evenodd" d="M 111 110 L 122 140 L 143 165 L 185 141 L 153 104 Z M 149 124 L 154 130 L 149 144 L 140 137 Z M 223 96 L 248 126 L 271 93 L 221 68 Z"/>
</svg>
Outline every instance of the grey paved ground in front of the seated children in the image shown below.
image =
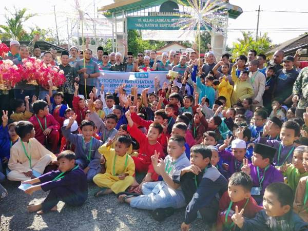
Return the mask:
<svg viewBox="0 0 308 231">
<path fill-rule="evenodd" d="M 44 215 L 27 212 L 27 205 L 40 203 L 47 196 L 43 191 L 36 191 L 32 196 L 18 189 L 17 182 L 3 183 L 9 192 L 5 201 L 0 203 L 0 230 L 180 230 L 185 209 L 159 223 L 152 219 L 146 210 L 131 208 L 121 204 L 115 195 L 94 198 L 97 191 L 94 184 L 89 184 L 89 197 L 81 207 L 58 204 L 58 210 Z M 190 230 L 206 230 L 201 220 L 195 221 Z"/>
</svg>

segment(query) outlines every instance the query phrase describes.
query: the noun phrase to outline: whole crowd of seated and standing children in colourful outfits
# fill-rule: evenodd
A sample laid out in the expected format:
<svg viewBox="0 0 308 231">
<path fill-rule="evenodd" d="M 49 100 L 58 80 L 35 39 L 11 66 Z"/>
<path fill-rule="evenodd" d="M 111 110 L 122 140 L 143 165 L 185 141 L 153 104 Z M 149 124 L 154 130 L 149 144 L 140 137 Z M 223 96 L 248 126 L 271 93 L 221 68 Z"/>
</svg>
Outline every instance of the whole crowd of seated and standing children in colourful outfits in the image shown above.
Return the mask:
<svg viewBox="0 0 308 231">
<path fill-rule="evenodd" d="M 95 197 L 115 194 L 158 221 L 186 207 L 181 230 L 196 219 L 214 230 L 308 230 L 308 108 L 300 118 L 269 103 L 275 70 L 264 76 L 255 61 L 249 72 L 241 55 L 206 76 L 195 62 L 151 93 L 102 85 L 86 100 L 74 83 L 72 102 L 51 90 L 15 100 L 0 126 L 0 181 L 49 191 L 28 206 L 40 214 L 82 205 L 93 182 Z"/>
</svg>

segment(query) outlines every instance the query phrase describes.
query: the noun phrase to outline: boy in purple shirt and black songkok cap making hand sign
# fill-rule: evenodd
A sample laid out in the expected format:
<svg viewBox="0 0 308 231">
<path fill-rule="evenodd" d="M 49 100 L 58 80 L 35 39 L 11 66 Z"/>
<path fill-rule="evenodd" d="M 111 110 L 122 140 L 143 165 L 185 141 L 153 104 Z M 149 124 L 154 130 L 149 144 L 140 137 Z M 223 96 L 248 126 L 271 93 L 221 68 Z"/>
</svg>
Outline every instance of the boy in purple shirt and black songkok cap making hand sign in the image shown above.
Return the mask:
<svg viewBox="0 0 308 231">
<path fill-rule="evenodd" d="M 249 164 L 248 160 L 243 160 L 242 171 L 252 177 L 254 185 L 251 194 L 259 205 L 262 205 L 264 189 L 267 185 L 274 182 L 283 182 L 280 171 L 271 165 L 275 152 L 275 148 L 257 143 L 252 157 L 253 163 Z"/>
</svg>

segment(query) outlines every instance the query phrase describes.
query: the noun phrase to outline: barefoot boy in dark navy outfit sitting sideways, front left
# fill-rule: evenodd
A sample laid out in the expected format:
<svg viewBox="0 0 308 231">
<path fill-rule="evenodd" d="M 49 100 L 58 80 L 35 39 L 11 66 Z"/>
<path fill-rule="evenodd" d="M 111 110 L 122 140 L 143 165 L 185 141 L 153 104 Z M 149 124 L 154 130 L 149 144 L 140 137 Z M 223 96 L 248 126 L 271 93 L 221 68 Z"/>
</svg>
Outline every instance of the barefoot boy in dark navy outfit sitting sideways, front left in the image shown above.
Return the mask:
<svg viewBox="0 0 308 231">
<path fill-rule="evenodd" d="M 87 177 L 84 171 L 75 163 L 76 156 L 72 151 L 63 151 L 57 156 L 59 170 L 22 182 L 32 186 L 25 190 L 32 195 L 34 191 L 49 191 L 41 204 L 29 205 L 28 211 L 37 214 L 55 211 L 57 203 L 63 201 L 70 206 L 81 206 L 88 198 Z M 40 183 L 40 184 L 37 184 Z M 37 185 L 34 185 L 37 184 Z"/>
</svg>

